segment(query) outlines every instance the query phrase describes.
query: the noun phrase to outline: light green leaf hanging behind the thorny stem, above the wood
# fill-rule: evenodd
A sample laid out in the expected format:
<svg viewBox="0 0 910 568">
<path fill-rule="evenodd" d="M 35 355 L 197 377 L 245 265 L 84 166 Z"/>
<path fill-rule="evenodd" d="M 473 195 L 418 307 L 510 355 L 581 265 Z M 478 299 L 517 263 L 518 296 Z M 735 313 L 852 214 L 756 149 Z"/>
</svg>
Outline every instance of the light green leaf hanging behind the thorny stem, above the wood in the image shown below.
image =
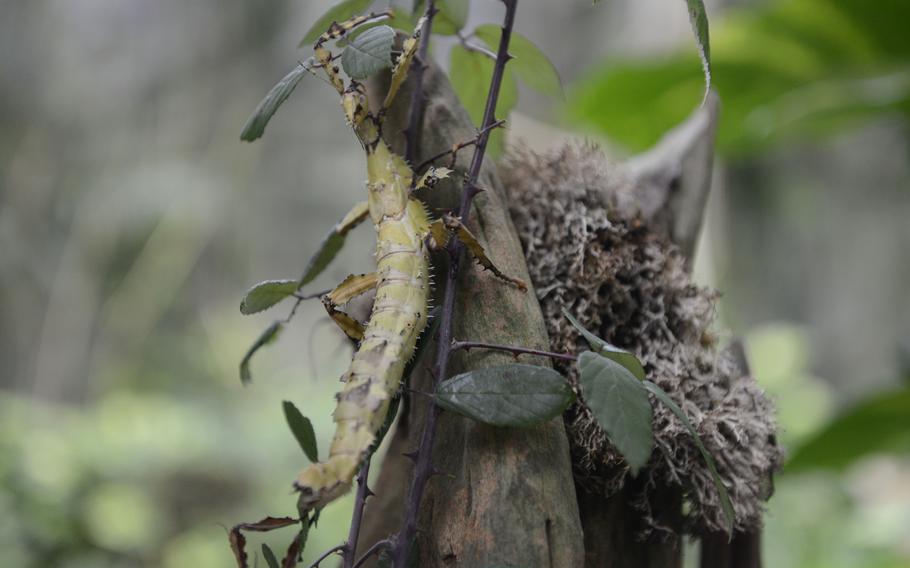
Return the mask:
<svg viewBox="0 0 910 568">
<path fill-rule="evenodd" d="M 487 94 L 492 78 L 492 59 L 482 53 L 469 51 L 461 45 L 452 48 L 449 80 L 461 105 L 468 111 L 468 115 L 475 124 L 479 125 L 483 120 L 483 111 L 487 104 Z M 518 87 L 515 85 L 512 72 L 506 66 L 499 90 L 499 99 L 496 101 L 496 117 L 507 118 L 517 103 Z M 502 154 L 502 137 L 501 129 L 496 129 L 490 134 L 490 141 L 487 145 L 490 155 L 496 157 Z"/>
</svg>

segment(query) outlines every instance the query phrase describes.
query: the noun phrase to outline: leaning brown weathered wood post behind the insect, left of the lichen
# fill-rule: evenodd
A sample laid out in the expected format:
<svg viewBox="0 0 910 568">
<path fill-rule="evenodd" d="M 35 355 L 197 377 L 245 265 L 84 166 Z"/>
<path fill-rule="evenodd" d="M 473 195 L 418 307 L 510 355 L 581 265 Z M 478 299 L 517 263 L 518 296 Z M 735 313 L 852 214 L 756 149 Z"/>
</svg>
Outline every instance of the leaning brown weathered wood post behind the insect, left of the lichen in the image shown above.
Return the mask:
<svg viewBox="0 0 910 568">
<path fill-rule="evenodd" d="M 403 149 L 411 90 L 406 85 L 386 120 L 385 135 Z M 424 77 L 426 109 L 417 161 L 472 139 L 476 128 L 446 77 L 430 66 Z M 374 97 L 375 98 L 375 97 Z M 467 170 L 470 151 L 459 155 L 456 170 Z M 462 175 L 440 183 L 425 196 L 435 208 L 454 208 Z M 521 244 L 496 168 L 487 160 L 480 177 L 487 191 L 475 199 L 470 229 L 505 273 L 530 282 Z M 436 269 L 442 283 L 441 267 Z M 533 290 L 523 293 L 474 263 L 465 263 L 458 282 L 454 336 L 545 349 L 546 331 Z M 437 296 L 442 290 L 437 290 Z M 428 354 L 429 355 L 429 354 Z M 426 357 L 431 361 L 431 357 Z M 511 362 L 495 352 L 453 354 L 449 372 L 460 373 Z M 547 360 L 535 361 L 549 365 Z M 415 371 L 412 388 L 430 390 L 425 370 Z M 396 429 L 368 503 L 364 550 L 397 531 L 404 516 L 410 460 L 423 427 L 427 399 L 412 396 L 409 412 Z M 444 472 L 429 481 L 418 521 L 418 566 L 581 566 L 584 559 L 569 446 L 561 418 L 530 429 L 493 428 L 444 413 L 438 422 L 433 462 Z"/>
</svg>

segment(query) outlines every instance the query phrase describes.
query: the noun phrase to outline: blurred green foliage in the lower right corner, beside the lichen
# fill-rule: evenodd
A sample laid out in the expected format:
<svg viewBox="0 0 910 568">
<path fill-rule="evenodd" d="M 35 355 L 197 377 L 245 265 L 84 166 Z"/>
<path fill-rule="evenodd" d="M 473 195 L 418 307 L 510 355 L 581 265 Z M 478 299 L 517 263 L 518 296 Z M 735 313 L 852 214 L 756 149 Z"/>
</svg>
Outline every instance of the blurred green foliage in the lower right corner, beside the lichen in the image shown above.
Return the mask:
<svg viewBox="0 0 910 568">
<path fill-rule="evenodd" d="M 784 445 L 804 448 L 795 457 L 803 473 L 795 475 L 785 465 L 775 481 L 765 518 L 766 565 L 907 566 L 910 453 L 904 447 L 895 454 L 895 446 L 878 438 L 884 432 L 893 439 L 901 428 L 906 435 L 910 414 L 894 412 L 895 406 L 906 405 L 906 395 L 876 396 L 831 422 L 834 392 L 808 373 L 811 348 L 804 328 L 762 326 L 747 335 L 746 346 L 755 376 L 774 396 Z M 888 412 L 878 412 L 881 408 Z M 840 473 L 815 469 L 834 456 Z"/>
</svg>

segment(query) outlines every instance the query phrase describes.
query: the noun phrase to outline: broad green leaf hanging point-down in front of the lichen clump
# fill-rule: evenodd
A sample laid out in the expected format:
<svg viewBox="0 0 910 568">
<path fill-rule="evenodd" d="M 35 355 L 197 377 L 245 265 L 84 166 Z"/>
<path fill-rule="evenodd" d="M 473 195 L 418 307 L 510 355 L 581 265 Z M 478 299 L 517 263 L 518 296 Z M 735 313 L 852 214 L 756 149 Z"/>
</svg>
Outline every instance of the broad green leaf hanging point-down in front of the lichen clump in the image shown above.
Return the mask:
<svg viewBox="0 0 910 568">
<path fill-rule="evenodd" d="M 578 356 L 578 371 L 585 405 L 637 474 L 654 445 L 648 391 L 628 369 L 593 351 Z"/>
</svg>

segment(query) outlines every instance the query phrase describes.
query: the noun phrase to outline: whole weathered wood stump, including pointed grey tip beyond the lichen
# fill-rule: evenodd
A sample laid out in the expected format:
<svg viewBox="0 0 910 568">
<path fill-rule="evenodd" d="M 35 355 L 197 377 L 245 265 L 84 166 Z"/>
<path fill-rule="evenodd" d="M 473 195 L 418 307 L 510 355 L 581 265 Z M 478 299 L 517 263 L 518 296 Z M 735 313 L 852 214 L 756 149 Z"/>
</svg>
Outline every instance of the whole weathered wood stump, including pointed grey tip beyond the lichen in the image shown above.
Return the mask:
<svg viewBox="0 0 910 568">
<path fill-rule="evenodd" d="M 377 82 L 378 83 L 378 82 Z M 410 81 L 409 81 L 410 83 Z M 373 85 L 382 88 L 382 85 Z M 426 111 L 420 129 L 417 161 L 469 140 L 475 127 L 457 101 L 448 80 L 432 64 L 425 75 Z M 387 139 L 403 150 L 410 84 L 406 84 L 386 122 Z M 374 97 L 375 98 L 375 97 Z M 691 258 L 710 188 L 717 99 L 673 132 L 654 150 L 631 160 L 624 173 L 635 192 L 620 196 L 627 207 L 665 231 Z M 458 160 L 465 171 L 469 155 Z M 461 176 L 440 184 L 425 196 L 433 208 L 456 206 Z M 503 204 L 503 191 L 489 160 L 481 175 L 488 191 L 475 200 L 471 229 L 506 273 L 528 280 L 523 253 Z M 622 203 L 620 203 L 622 206 Z M 690 263 L 691 266 L 691 263 Z M 443 274 L 441 268 L 437 268 Z M 440 280 L 442 280 L 440 278 Z M 442 282 L 440 282 L 442 283 Z M 442 291 L 437 290 L 437 295 Z M 466 266 L 459 279 L 455 337 L 546 348 L 540 308 L 533 292 L 522 294 L 476 267 Z M 431 353 L 425 356 L 432 361 Z M 458 353 L 450 373 L 510 361 L 501 353 Z M 547 365 L 547 361 L 535 363 Z M 431 388 L 425 368 L 415 371 L 411 387 Z M 404 517 L 411 461 L 402 456 L 417 446 L 427 399 L 411 396 L 392 435 L 375 488 L 366 508 L 359 548 L 397 532 Z M 676 535 L 641 542 L 637 514 L 625 492 L 611 498 L 585 494 L 572 477 L 568 442 L 560 419 L 528 430 L 492 428 L 444 413 L 438 423 L 434 464 L 443 475 L 429 482 L 421 507 L 416 553 L 419 566 L 682 566 L 681 538 Z M 681 495 L 667 489 L 662 524 L 681 532 Z M 702 566 L 760 566 L 758 535 L 736 535 L 732 542 L 705 538 Z M 725 559 L 722 563 L 715 559 Z M 707 564 L 706 564 L 707 562 Z"/>
</svg>

